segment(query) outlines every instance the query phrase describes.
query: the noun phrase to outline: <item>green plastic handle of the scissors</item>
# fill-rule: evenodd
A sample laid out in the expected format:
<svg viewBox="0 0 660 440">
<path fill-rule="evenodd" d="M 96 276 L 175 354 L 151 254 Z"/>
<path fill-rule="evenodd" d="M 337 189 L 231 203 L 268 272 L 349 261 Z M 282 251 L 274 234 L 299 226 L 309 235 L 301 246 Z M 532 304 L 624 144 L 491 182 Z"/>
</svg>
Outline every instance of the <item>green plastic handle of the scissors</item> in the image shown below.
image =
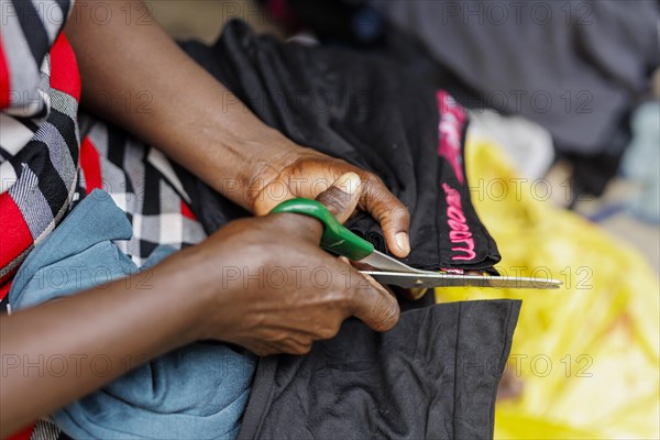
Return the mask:
<svg viewBox="0 0 660 440">
<path fill-rule="evenodd" d="M 374 252 L 374 245 L 344 228 L 321 202 L 311 199 L 292 199 L 277 205 L 271 213 L 301 213 L 323 223 L 321 248 L 353 261 L 360 261 Z"/>
</svg>

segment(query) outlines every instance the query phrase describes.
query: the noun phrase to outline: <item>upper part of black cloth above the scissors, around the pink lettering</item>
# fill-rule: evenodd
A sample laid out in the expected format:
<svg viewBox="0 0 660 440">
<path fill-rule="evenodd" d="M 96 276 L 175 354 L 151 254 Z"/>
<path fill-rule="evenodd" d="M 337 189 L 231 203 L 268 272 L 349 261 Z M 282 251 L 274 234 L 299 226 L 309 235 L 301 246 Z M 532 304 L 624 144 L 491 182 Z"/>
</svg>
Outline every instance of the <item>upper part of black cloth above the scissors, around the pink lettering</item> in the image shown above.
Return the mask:
<svg viewBox="0 0 660 440">
<path fill-rule="evenodd" d="M 279 43 L 254 35 L 241 22 L 229 23 L 213 47 L 197 42 L 182 45 L 266 124 L 300 145 L 380 176 L 410 211 L 413 251 L 407 264 L 493 271 L 499 254 L 470 201 L 468 184 L 459 183 L 449 163 L 438 155 L 440 114 L 431 86 L 384 59 Z M 178 172 L 193 197 L 191 209 L 207 232 L 248 215 Z M 457 244 L 449 238 L 442 184 L 461 194 L 474 239 L 475 256 L 470 261 L 452 260 Z M 370 216 L 362 213 L 346 226 L 386 252 L 382 230 Z"/>
</svg>

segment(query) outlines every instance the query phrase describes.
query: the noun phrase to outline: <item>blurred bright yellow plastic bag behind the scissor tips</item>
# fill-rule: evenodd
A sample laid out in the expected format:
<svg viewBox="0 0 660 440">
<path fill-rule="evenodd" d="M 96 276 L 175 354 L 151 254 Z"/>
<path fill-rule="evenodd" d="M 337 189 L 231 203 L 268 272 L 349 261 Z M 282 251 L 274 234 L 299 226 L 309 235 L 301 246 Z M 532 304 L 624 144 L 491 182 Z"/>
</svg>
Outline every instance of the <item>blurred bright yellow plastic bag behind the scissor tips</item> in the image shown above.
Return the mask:
<svg viewBox="0 0 660 440">
<path fill-rule="evenodd" d="M 468 174 L 503 275 L 551 276 L 558 290 L 437 289 L 438 301 L 519 298 L 507 370 L 524 391 L 497 403 L 498 439 L 659 439 L 660 283 L 626 243 L 554 208 L 544 180 L 519 179 L 495 144 L 468 139 Z"/>
</svg>

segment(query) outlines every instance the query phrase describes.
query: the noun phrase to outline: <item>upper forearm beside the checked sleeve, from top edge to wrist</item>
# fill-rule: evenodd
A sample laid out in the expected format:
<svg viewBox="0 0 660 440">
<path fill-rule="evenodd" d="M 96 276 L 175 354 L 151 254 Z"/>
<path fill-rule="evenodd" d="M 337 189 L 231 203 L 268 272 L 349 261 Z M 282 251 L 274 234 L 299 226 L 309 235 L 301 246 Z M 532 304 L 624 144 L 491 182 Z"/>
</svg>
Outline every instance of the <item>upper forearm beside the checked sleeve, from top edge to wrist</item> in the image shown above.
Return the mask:
<svg viewBox="0 0 660 440">
<path fill-rule="evenodd" d="M 249 208 L 253 176 L 267 178 L 267 163 L 292 144 L 144 16 L 142 1 L 103 2 L 111 19 L 102 24 L 89 13 L 95 1 L 76 3 L 65 30 L 84 105 Z"/>
</svg>

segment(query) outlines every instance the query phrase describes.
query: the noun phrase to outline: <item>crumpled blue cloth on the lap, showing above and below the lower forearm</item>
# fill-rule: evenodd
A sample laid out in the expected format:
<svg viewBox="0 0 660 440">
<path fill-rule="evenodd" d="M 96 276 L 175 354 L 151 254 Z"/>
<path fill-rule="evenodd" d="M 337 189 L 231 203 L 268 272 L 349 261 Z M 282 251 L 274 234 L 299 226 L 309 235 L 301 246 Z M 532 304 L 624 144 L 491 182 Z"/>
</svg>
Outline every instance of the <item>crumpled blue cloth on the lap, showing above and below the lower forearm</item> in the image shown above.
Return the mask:
<svg viewBox="0 0 660 440">
<path fill-rule="evenodd" d="M 112 242 L 132 234 L 127 215 L 94 190 L 28 256 L 9 293 L 12 310 L 75 295 L 139 272 Z M 172 254 L 156 249 L 144 267 Z M 153 360 L 52 418 L 73 438 L 235 438 L 256 359 L 194 343 Z"/>
</svg>

